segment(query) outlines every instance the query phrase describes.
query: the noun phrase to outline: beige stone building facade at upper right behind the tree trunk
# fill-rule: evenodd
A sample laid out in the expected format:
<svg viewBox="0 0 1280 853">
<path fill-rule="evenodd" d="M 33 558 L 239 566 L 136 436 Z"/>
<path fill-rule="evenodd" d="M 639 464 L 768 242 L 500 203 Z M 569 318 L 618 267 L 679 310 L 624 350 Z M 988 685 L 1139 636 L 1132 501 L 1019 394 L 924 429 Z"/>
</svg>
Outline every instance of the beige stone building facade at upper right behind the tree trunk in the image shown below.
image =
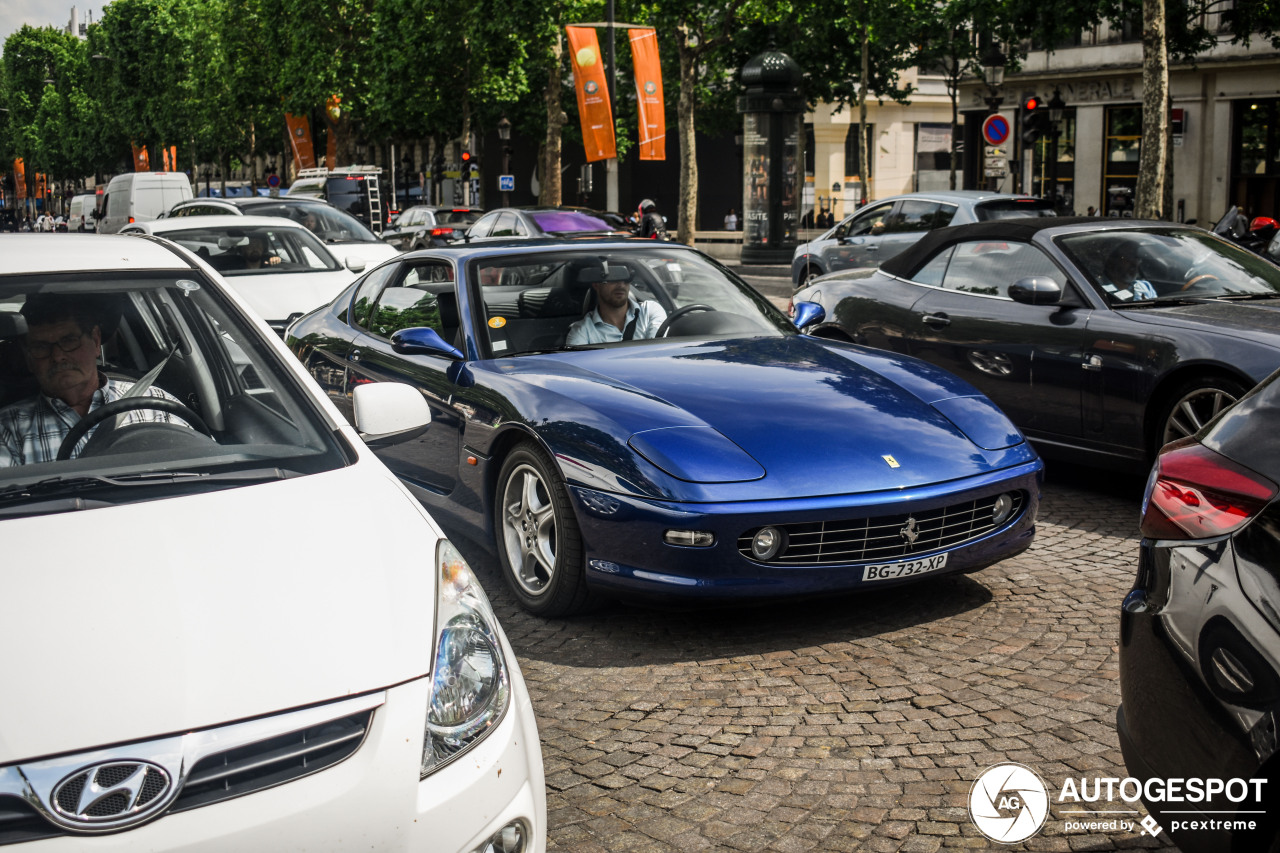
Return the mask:
<svg viewBox="0 0 1280 853">
<path fill-rule="evenodd" d="M 1216 23 L 1216 22 L 1208 22 Z M 1001 114 L 1015 128 L 1005 191 L 1056 196 L 1064 211 L 1132 216 L 1142 149 L 1142 44 L 1137 27 L 1100 27 L 1076 46 L 1034 51 L 1006 73 Z M 1265 40 L 1219 44 L 1196 63 L 1170 65 L 1172 207 L 1176 222 L 1212 225 L 1230 205 L 1280 213 L 1280 51 Z M 1020 140 L 1029 95 L 1064 105 L 1034 143 Z M 966 187 L 986 186 L 987 87 L 963 87 Z"/>
</svg>

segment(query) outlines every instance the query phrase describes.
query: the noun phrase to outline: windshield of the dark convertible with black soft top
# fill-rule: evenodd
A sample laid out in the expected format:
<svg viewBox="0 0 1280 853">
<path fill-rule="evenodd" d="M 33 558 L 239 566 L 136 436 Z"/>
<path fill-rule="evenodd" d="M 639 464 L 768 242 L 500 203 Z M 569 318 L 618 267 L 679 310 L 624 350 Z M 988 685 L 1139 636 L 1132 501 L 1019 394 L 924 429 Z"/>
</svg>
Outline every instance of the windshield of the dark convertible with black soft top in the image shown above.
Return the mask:
<svg viewBox="0 0 1280 853">
<path fill-rule="evenodd" d="M 1207 231 L 1103 229 L 1057 243 L 1112 305 L 1280 295 L 1280 268 Z"/>
</svg>

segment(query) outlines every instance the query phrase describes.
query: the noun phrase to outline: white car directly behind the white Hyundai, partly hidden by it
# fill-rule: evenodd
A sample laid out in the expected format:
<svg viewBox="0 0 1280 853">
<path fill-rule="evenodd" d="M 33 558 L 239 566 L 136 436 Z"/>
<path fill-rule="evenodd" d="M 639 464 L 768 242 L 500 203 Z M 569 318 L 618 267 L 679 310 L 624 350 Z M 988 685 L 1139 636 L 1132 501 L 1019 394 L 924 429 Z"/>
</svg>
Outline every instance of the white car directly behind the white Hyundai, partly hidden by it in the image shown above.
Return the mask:
<svg viewBox="0 0 1280 853">
<path fill-rule="evenodd" d="M 180 216 L 125 225 L 189 250 L 227 279 L 278 333 L 328 304 L 365 269 L 335 257 L 302 224 L 279 216 Z"/>
</svg>

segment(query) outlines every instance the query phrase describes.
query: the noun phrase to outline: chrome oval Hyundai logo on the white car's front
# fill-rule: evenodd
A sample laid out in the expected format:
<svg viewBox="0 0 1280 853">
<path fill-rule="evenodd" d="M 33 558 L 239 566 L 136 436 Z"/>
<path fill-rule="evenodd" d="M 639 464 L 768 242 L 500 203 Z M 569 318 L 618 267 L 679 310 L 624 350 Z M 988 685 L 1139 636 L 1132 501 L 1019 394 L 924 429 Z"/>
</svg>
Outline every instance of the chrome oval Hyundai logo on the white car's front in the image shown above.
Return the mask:
<svg viewBox="0 0 1280 853">
<path fill-rule="evenodd" d="M 104 761 L 54 785 L 52 807 L 70 826 L 119 829 L 152 817 L 172 788 L 169 772 L 150 761 Z"/>
</svg>

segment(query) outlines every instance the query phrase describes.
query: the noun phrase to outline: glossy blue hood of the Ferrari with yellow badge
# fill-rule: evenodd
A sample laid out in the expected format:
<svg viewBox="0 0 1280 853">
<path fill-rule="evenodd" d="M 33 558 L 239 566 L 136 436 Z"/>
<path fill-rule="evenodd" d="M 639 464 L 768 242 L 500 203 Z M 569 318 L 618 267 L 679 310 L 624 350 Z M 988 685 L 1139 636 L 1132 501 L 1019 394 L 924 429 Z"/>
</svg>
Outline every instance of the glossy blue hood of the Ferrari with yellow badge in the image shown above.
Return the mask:
<svg viewBox="0 0 1280 853">
<path fill-rule="evenodd" d="M 561 364 L 538 384 L 609 418 L 681 480 L 837 494 L 959 479 L 1029 453 L 1009 419 L 954 377 L 804 336 L 608 347 Z"/>
</svg>

